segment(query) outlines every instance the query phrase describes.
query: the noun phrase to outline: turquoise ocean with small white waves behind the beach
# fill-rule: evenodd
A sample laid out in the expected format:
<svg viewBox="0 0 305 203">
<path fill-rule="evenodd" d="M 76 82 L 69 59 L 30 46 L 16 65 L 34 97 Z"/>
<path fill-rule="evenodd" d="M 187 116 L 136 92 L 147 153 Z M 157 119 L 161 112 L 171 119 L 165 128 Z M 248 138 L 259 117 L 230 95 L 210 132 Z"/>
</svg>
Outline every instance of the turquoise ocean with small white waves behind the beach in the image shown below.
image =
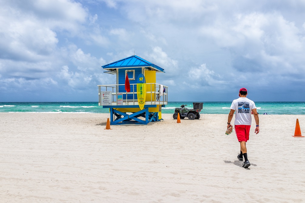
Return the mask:
<svg viewBox="0 0 305 203">
<path fill-rule="evenodd" d="M 163 114 L 173 114 L 182 104 L 193 108 L 192 102 L 168 102 Z M 305 102 L 255 102 L 259 114 L 305 114 Z M 228 114 L 231 102 L 203 102 L 200 114 Z M 0 102 L 0 112 L 24 113 L 109 113 L 98 102 Z"/>
</svg>

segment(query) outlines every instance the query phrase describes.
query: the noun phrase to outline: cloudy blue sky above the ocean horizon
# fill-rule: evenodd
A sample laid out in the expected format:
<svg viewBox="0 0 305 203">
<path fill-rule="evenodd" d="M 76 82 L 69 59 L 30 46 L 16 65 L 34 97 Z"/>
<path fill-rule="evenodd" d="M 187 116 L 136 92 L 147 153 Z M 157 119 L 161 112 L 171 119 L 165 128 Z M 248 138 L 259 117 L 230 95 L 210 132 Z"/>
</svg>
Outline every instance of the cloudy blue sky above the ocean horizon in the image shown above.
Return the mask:
<svg viewBox="0 0 305 203">
<path fill-rule="evenodd" d="M 134 53 L 169 101 L 305 101 L 304 0 L 26 2 L 0 0 L 0 102 L 98 102 Z"/>
</svg>

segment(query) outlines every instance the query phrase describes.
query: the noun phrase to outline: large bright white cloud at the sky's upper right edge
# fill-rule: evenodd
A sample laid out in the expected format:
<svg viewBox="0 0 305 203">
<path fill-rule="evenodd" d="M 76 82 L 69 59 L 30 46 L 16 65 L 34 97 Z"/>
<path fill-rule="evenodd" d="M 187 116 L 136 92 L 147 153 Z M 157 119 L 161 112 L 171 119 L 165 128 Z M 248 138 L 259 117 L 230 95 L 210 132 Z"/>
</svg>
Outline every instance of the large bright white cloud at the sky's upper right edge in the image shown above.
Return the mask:
<svg viewBox="0 0 305 203">
<path fill-rule="evenodd" d="M 234 53 L 238 71 L 268 70 L 273 75 L 305 71 L 295 65 L 305 62 L 304 32 L 279 12 L 239 14 L 220 22 L 203 26 L 201 33 Z"/>
</svg>

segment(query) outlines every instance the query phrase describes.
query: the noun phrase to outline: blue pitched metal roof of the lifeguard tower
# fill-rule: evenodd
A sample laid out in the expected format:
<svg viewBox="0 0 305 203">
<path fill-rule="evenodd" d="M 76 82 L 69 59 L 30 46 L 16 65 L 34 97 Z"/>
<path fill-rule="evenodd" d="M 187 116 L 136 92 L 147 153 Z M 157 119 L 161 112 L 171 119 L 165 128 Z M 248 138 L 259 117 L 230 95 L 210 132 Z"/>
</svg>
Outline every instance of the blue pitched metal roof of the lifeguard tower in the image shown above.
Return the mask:
<svg viewBox="0 0 305 203">
<path fill-rule="evenodd" d="M 132 68 L 132 67 L 151 67 L 151 68 L 155 69 L 156 71 L 164 72 L 163 68 L 160 68 L 159 66 L 157 66 L 149 61 L 146 61 L 145 59 L 138 57 L 136 55 L 133 55 L 133 56 L 130 56 L 127 58 L 123 58 L 119 61 L 115 61 L 115 62 L 102 66 L 102 68 L 104 68 L 106 70 L 112 70 L 115 68 Z"/>
</svg>

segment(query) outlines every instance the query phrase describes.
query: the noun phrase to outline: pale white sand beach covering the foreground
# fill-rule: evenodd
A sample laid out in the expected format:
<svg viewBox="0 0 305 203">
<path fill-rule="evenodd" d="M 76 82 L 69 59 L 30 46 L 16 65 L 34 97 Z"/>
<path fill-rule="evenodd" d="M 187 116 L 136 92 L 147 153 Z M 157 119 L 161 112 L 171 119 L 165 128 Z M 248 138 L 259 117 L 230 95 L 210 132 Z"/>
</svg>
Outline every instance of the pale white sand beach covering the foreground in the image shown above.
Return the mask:
<svg viewBox="0 0 305 203">
<path fill-rule="evenodd" d="M 305 202 L 305 115 L 259 115 L 249 169 L 227 115 L 104 130 L 107 117 L 0 113 L 0 202 Z"/>
</svg>

